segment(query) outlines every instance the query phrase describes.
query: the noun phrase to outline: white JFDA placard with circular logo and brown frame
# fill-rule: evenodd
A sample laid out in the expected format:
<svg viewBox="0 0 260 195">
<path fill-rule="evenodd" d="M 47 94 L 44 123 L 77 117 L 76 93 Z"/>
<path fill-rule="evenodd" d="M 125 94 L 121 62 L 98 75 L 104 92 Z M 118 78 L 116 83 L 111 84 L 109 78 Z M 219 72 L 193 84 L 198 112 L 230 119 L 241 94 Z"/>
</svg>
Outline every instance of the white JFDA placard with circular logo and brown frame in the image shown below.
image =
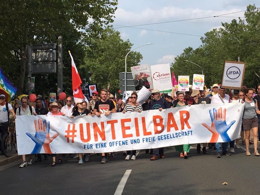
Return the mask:
<svg viewBox="0 0 260 195">
<path fill-rule="evenodd" d="M 244 80 L 246 63 L 225 61 L 221 86 L 229 89 L 241 89 Z"/>
</svg>

